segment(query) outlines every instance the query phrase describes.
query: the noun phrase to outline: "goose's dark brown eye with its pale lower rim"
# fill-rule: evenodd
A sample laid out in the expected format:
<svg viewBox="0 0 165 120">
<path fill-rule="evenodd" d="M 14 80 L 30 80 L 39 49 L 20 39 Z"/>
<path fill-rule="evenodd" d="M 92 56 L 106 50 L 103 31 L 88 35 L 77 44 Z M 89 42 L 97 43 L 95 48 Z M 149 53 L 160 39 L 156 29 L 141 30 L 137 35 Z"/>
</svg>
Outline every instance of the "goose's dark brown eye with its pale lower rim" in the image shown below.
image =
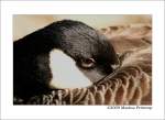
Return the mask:
<svg viewBox="0 0 165 120">
<path fill-rule="evenodd" d="M 81 66 L 85 68 L 90 68 L 95 66 L 95 59 L 94 58 L 87 58 L 87 59 L 81 59 Z"/>
</svg>

